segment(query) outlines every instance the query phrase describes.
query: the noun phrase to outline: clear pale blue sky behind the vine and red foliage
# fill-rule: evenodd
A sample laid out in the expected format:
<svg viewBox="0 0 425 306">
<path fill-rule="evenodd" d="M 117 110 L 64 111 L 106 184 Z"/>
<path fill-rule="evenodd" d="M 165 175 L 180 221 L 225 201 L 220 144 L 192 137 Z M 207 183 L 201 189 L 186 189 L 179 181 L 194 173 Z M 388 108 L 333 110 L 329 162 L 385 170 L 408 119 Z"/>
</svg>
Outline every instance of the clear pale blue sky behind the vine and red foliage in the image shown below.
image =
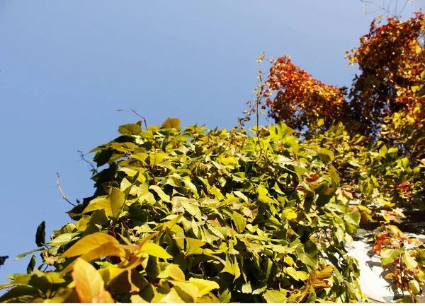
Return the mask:
<svg viewBox="0 0 425 306">
<path fill-rule="evenodd" d="M 257 70 L 268 69 L 256 63 L 262 52 L 291 54 L 314 78 L 349 86 L 356 69 L 344 53 L 378 16 L 363 9 L 360 0 L 1 0 L 0 256 L 9 259 L 0 283 L 26 273 L 30 256 L 13 259 L 36 248 L 42 220 L 47 241 L 71 221 L 56 172 L 70 201 L 93 194 L 77 151 L 138 121 L 118 109 L 137 110 L 148 125 L 179 117 L 230 129 L 253 98 Z"/>
</svg>

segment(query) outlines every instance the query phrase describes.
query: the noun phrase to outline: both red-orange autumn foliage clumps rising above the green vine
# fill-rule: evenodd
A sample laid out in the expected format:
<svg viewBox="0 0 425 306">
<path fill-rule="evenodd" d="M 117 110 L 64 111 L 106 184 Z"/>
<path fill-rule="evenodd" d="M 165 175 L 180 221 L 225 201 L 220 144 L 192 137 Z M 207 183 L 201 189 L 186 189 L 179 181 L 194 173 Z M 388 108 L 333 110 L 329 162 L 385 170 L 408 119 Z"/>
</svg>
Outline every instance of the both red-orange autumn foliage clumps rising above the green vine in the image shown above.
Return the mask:
<svg viewBox="0 0 425 306">
<path fill-rule="evenodd" d="M 243 120 L 268 107 L 268 117 L 307 132 L 307 138 L 318 128 L 325 131 L 334 122 L 344 122 L 351 136 L 375 139 L 387 117 L 424 103 L 424 98 L 416 95 L 424 85 L 424 14 L 415 13 L 404 22 L 396 17 L 387 18 L 384 25 L 381 21 L 382 16 L 373 20 L 360 46 L 346 52 L 350 64 L 361 71 L 346 98 L 347 88 L 311 78 L 285 55 L 270 60 L 268 76 L 264 82 L 261 78 L 261 86 L 255 90 L 265 101 L 248 102 Z M 261 54 L 259 61 L 263 58 Z"/>
</svg>

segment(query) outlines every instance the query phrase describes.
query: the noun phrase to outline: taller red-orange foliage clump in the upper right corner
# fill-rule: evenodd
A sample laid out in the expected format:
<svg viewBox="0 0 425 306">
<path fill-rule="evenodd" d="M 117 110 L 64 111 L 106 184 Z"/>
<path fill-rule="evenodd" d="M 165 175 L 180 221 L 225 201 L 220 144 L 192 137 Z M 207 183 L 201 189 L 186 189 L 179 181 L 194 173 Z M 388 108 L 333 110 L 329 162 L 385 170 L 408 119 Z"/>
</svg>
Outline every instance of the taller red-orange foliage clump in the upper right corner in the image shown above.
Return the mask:
<svg viewBox="0 0 425 306">
<path fill-rule="evenodd" d="M 359 124 L 355 131 L 365 135 L 376 133 L 384 117 L 413 110 L 419 102 L 414 90 L 424 83 L 424 14 L 415 13 L 404 22 L 388 18 L 385 25 L 381 20 L 373 20 L 360 47 L 347 52 L 350 64 L 361 70 L 350 91 L 351 118 Z"/>
</svg>

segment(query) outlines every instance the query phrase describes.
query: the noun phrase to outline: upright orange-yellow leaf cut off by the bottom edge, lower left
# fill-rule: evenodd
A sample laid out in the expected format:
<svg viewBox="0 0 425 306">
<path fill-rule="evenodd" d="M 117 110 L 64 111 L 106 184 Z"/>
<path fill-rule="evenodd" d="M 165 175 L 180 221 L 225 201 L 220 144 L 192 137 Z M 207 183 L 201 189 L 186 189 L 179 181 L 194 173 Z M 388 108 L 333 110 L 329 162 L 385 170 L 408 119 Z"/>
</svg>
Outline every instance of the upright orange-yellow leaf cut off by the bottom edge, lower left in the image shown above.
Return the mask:
<svg viewBox="0 0 425 306">
<path fill-rule="evenodd" d="M 77 259 L 71 275 L 80 302 L 114 302 L 111 294 L 105 290 L 101 274 L 87 261 Z"/>
</svg>

